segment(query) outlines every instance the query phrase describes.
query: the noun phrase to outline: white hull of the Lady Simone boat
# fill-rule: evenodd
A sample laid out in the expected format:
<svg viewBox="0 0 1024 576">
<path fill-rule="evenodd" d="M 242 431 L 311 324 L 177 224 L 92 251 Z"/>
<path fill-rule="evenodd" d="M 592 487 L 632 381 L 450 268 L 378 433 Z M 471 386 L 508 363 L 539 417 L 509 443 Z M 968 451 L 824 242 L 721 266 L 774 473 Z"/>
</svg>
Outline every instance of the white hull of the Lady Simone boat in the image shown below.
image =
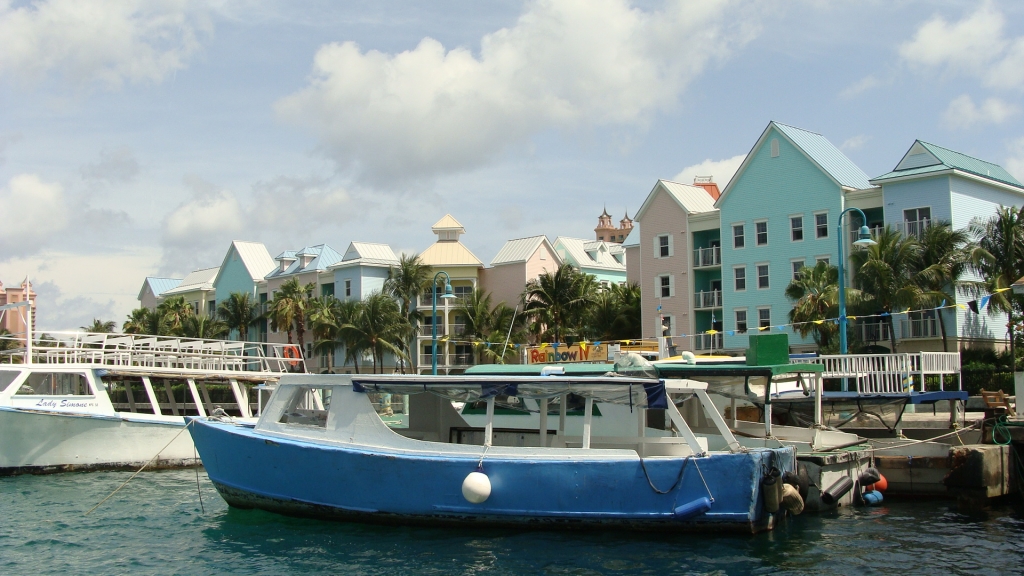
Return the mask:
<svg viewBox="0 0 1024 576">
<path fill-rule="evenodd" d="M 162 419 L 0 407 L 0 476 L 199 464 L 184 418 Z"/>
</svg>

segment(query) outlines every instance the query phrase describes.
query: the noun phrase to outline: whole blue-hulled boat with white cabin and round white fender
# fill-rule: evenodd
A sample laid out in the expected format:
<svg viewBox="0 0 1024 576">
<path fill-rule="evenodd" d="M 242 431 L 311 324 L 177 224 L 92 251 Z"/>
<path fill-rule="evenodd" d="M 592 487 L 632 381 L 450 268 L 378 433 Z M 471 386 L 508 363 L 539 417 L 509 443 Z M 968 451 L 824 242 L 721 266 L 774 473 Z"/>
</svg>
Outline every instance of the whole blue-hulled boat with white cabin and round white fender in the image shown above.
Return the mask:
<svg viewBox="0 0 1024 576">
<path fill-rule="evenodd" d="M 389 524 L 771 529 L 785 512 L 781 489 L 766 479 L 795 470 L 796 451 L 743 446 L 702 386 L 612 376 L 288 375 L 255 425 L 205 417 L 188 428 L 210 480 L 239 508 Z M 408 427 L 382 421 L 380 395 L 407 399 Z M 541 425 L 495 428 L 496 402 L 509 398 L 536 400 Z M 691 429 L 676 408 L 687 398 L 706 407 L 718 434 Z M 453 402 L 484 405 L 486 425 L 467 425 Z M 636 435 L 591 434 L 595 405 L 607 403 L 632 408 Z M 573 404 L 584 412 L 578 437 L 565 434 Z M 668 430 L 646 425 L 651 411 L 664 411 Z"/>
</svg>

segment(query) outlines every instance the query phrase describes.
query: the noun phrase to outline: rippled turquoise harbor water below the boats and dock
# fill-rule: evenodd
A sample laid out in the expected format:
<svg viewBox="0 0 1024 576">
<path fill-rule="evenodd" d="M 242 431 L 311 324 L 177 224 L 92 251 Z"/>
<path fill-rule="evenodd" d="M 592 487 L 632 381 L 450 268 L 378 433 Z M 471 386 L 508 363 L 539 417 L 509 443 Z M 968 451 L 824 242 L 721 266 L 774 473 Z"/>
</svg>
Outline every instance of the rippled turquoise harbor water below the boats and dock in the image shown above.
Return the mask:
<svg viewBox="0 0 1024 576">
<path fill-rule="evenodd" d="M 790 519 L 754 536 L 430 530 L 236 510 L 200 470 L 0 479 L 3 574 L 1010 574 L 1024 510 L 944 500 Z M 344 486 L 339 486 L 344 490 Z"/>
</svg>

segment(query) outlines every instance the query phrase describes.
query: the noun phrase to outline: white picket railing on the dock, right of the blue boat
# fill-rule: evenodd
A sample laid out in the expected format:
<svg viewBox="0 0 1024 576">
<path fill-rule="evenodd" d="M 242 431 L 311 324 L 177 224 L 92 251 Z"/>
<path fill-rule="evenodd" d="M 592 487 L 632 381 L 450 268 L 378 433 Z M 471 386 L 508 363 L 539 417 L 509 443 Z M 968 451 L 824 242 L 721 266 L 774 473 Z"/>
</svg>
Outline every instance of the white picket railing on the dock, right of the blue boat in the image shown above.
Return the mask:
<svg viewBox="0 0 1024 576">
<path fill-rule="evenodd" d="M 850 354 L 794 359 L 795 364 L 820 364 L 823 378 L 849 379 L 857 394 L 925 392 L 925 375 L 937 374 L 945 389 L 945 375 L 958 374 L 959 353 Z M 961 386 L 957 385 L 957 389 Z"/>
</svg>

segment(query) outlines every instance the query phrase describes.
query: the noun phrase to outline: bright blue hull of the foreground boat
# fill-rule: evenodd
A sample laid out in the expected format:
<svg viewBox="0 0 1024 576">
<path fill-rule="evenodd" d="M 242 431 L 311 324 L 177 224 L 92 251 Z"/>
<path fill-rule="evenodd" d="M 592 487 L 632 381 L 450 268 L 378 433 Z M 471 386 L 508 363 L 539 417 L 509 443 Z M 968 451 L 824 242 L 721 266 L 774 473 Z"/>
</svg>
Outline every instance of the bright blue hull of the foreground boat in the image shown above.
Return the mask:
<svg viewBox="0 0 1024 576">
<path fill-rule="evenodd" d="M 188 428 L 232 506 L 388 524 L 757 532 L 772 526 L 763 470 L 792 469 L 796 457 L 791 448 L 643 461 L 486 455 L 490 496 L 473 504 L 462 484 L 479 455 L 325 445 L 202 419 Z"/>
</svg>

